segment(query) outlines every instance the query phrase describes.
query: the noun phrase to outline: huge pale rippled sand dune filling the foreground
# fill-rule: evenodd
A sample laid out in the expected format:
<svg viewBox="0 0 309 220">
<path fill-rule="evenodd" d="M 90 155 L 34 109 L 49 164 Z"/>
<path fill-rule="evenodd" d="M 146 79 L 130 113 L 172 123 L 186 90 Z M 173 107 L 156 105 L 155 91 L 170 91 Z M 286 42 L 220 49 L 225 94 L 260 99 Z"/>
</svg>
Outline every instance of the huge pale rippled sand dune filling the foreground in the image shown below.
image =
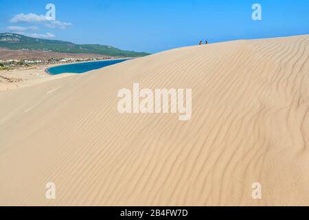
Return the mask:
<svg viewBox="0 0 309 220">
<path fill-rule="evenodd" d="M 1 91 L 0 205 L 309 206 L 308 56 L 308 35 L 233 41 Z M 191 120 L 118 113 L 133 83 L 192 88 Z"/>
</svg>

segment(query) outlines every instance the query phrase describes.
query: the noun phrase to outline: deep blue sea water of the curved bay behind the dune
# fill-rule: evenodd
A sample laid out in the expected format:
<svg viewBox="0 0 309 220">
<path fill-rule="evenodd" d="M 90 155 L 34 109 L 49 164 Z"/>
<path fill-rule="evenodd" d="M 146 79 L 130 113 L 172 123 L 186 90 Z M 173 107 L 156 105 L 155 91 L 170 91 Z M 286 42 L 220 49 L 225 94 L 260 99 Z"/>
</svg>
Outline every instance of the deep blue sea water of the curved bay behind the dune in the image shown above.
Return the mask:
<svg viewBox="0 0 309 220">
<path fill-rule="evenodd" d="M 65 73 L 82 74 L 84 72 L 88 72 L 93 69 L 100 69 L 102 67 L 107 67 L 109 65 L 121 63 L 127 60 L 128 59 L 115 60 L 115 61 L 93 61 L 87 63 L 74 63 L 74 64 L 51 67 L 46 71 L 52 75 L 65 74 Z"/>
</svg>

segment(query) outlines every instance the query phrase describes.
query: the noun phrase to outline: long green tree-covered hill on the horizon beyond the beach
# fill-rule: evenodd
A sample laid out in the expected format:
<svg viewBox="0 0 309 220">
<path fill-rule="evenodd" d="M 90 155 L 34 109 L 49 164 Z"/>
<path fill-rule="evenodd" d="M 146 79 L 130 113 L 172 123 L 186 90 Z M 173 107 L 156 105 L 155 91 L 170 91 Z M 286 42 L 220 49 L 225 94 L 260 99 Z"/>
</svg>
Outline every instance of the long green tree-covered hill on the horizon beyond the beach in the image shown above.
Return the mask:
<svg viewBox="0 0 309 220">
<path fill-rule="evenodd" d="M 67 41 L 35 39 L 21 34 L 0 34 L 0 47 L 10 50 L 44 50 L 70 54 L 102 54 L 108 56 L 137 57 L 146 56 L 144 52 L 120 50 L 108 45 L 84 44 L 78 45 Z"/>
</svg>

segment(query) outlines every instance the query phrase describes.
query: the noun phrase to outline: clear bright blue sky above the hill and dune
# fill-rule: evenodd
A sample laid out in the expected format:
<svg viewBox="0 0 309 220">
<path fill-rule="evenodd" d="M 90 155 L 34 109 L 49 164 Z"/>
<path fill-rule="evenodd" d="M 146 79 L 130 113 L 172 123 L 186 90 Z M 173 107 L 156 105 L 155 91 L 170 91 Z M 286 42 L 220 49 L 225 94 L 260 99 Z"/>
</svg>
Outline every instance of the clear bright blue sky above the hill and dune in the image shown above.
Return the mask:
<svg viewBox="0 0 309 220">
<path fill-rule="evenodd" d="M 56 5 L 54 25 L 26 20 Z M 253 3 L 262 21 L 253 21 Z M 0 32 L 159 52 L 235 39 L 309 34 L 308 0 L 1 0 Z M 23 13 L 23 19 L 16 15 Z M 26 19 L 25 19 L 26 17 Z M 16 28 L 17 27 L 17 28 Z"/>
</svg>

